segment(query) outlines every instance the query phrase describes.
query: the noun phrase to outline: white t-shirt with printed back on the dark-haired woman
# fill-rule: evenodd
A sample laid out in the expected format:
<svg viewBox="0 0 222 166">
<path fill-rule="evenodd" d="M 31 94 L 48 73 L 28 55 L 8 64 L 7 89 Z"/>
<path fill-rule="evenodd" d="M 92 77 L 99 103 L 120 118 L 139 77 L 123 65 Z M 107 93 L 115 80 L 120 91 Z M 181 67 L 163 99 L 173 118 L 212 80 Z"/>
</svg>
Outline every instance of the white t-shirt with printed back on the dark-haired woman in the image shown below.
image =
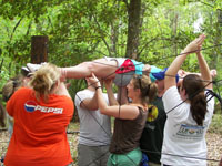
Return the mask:
<svg viewBox="0 0 222 166">
<path fill-rule="evenodd" d="M 193 120 L 190 104 L 183 103 L 176 86 L 168 89 L 162 98 L 168 118 L 161 163 L 173 166 L 206 166 L 205 133 L 212 120 L 214 98 L 208 102 L 203 126 L 199 126 Z M 180 103 L 182 104 L 179 105 Z"/>
</svg>

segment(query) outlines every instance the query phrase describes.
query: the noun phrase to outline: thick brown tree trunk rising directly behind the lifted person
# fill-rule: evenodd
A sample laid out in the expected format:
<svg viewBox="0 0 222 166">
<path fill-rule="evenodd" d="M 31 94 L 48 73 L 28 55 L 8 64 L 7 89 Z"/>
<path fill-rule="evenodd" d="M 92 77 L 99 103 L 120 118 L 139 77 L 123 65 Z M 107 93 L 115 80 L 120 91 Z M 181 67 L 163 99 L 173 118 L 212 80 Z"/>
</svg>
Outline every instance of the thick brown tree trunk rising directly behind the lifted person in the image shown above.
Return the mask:
<svg viewBox="0 0 222 166">
<path fill-rule="evenodd" d="M 141 0 L 130 0 L 128 14 L 128 43 L 125 58 L 137 59 L 140 34 Z"/>
</svg>

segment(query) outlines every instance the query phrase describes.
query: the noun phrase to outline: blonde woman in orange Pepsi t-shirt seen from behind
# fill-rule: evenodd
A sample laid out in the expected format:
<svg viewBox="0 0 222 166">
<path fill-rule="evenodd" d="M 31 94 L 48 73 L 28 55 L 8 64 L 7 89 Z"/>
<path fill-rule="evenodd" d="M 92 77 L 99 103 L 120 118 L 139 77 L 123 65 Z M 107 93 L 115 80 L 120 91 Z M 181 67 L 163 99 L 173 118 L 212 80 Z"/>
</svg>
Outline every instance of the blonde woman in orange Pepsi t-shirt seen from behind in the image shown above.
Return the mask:
<svg viewBox="0 0 222 166">
<path fill-rule="evenodd" d="M 65 131 L 74 107 L 60 82 L 60 70 L 50 63 L 42 65 L 29 86 L 17 90 L 7 103 L 14 128 L 4 164 L 69 165 L 72 158 Z"/>
</svg>

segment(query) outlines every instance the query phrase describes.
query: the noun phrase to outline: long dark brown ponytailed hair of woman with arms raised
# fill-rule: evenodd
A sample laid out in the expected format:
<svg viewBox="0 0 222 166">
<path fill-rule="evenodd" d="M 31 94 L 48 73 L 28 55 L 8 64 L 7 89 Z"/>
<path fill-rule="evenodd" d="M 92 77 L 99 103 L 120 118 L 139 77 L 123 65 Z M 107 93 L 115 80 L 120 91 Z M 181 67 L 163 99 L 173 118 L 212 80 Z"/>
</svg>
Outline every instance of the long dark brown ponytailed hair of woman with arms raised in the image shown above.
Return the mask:
<svg viewBox="0 0 222 166">
<path fill-rule="evenodd" d="M 203 125 L 206 113 L 206 98 L 203 80 L 196 74 L 189 74 L 183 79 L 183 89 L 191 103 L 191 113 L 198 125 Z"/>
</svg>

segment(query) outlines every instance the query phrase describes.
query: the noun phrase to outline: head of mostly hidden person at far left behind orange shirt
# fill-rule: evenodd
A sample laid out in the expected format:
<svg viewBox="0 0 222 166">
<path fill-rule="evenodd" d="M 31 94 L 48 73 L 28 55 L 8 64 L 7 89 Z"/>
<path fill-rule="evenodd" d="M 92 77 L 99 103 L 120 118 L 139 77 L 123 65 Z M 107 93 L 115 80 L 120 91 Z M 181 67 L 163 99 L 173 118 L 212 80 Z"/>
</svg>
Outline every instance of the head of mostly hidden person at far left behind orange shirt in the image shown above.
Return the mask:
<svg viewBox="0 0 222 166">
<path fill-rule="evenodd" d="M 8 80 L 8 82 L 3 85 L 2 87 L 2 96 L 3 96 L 3 101 L 7 102 L 12 94 L 22 86 L 22 80 L 23 76 L 22 75 L 18 75 L 13 79 Z"/>
</svg>

